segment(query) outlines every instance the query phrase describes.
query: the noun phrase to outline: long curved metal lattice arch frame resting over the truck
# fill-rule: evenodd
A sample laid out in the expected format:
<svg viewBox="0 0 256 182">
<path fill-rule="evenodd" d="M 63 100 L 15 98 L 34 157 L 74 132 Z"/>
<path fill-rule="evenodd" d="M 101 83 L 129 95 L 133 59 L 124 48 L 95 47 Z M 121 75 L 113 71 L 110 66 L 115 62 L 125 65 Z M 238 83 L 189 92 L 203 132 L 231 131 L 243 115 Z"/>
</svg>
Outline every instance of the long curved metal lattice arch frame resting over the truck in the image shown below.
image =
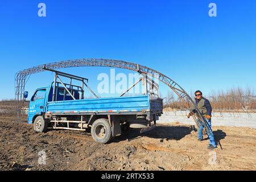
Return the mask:
<svg viewBox="0 0 256 182">
<path fill-rule="evenodd" d="M 200 126 L 200 121 L 205 126 L 205 129 L 209 133 L 209 125 L 205 122 L 203 115 L 200 113 L 199 109 L 196 107 L 195 102 L 192 98 L 185 92 L 179 84 L 174 80 L 162 73 L 155 71 L 154 69 L 145 67 L 140 64 L 130 63 L 122 60 L 112 60 L 112 59 L 74 59 L 74 60 L 65 60 L 54 63 L 46 64 L 46 67 L 49 69 L 60 69 L 60 68 L 71 68 L 71 67 L 114 67 L 114 68 L 123 68 L 129 69 L 140 73 L 143 76 L 149 75 L 151 77 L 157 78 L 159 81 L 162 81 L 164 84 L 169 86 L 184 102 L 187 109 L 192 111 L 192 107 L 196 109 L 197 114 L 193 114 L 192 117 L 196 122 L 197 126 Z M 15 74 L 15 100 L 18 101 L 17 107 L 21 109 L 23 106 L 23 93 L 26 82 L 30 75 L 34 73 L 39 73 L 44 71 L 44 64 L 24 69 Z"/>
</svg>

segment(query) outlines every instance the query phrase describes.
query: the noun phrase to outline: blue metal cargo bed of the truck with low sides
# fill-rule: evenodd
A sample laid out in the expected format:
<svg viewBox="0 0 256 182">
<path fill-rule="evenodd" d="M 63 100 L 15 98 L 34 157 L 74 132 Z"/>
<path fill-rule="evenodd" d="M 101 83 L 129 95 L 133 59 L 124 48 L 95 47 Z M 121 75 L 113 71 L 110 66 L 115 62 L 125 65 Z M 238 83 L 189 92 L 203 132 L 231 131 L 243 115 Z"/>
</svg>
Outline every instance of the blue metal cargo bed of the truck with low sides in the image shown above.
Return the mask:
<svg viewBox="0 0 256 182">
<path fill-rule="evenodd" d="M 47 113 L 134 113 L 156 111 L 162 113 L 162 99 L 150 100 L 150 96 L 109 97 L 84 100 L 48 102 Z"/>
</svg>

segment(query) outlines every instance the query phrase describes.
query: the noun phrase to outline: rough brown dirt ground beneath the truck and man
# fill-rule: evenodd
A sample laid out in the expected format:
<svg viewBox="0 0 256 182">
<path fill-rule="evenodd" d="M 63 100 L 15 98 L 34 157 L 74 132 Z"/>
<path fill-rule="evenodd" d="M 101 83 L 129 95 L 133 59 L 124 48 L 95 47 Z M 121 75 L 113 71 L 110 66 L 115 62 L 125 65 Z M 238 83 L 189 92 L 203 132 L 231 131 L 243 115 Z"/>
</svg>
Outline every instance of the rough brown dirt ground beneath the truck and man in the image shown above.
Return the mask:
<svg viewBox="0 0 256 182">
<path fill-rule="evenodd" d="M 197 141 L 194 126 L 158 125 L 140 134 L 94 142 L 88 132 L 51 130 L 0 119 L 1 170 L 255 170 L 256 129 L 213 127 L 218 147 Z M 43 153 L 46 164 L 38 163 Z M 216 159 L 216 160 L 214 160 Z M 40 161 L 39 161 L 40 162 Z"/>
</svg>

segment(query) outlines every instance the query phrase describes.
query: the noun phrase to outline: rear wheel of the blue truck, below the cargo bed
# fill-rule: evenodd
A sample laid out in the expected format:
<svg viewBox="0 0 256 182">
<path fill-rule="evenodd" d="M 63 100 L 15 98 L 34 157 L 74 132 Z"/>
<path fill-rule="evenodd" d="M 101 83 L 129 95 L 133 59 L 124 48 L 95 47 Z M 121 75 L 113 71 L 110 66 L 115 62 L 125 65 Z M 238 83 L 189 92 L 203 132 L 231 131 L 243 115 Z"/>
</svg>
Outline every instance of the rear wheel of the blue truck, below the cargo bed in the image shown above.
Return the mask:
<svg viewBox="0 0 256 182">
<path fill-rule="evenodd" d="M 108 143 L 112 139 L 111 127 L 108 119 L 101 118 L 94 121 L 90 133 L 96 142 Z"/>
</svg>

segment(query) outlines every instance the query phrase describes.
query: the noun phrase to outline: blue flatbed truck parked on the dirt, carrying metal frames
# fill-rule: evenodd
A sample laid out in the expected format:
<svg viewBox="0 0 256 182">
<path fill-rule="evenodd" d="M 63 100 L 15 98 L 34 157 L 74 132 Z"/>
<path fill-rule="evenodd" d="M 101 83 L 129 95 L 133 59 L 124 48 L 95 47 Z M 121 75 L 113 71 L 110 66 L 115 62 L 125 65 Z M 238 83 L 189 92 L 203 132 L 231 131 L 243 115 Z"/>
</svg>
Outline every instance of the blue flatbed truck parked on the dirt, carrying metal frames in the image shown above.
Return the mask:
<svg viewBox="0 0 256 182">
<path fill-rule="evenodd" d="M 32 94 L 27 122 L 34 125 L 36 132 L 90 129 L 94 140 L 108 143 L 129 128 L 141 128 L 141 132 L 153 129 L 162 114 L 163 100 L 154 94 L 98 98 L 85 83 L 87 78 L 44 69 L 55 72 L 55 80 Z M 60 77 L 71 81 L 64 83 Z M 81 86 L 72 84 L 72 80 L 81 81 Z M 84 98 L 85 87 L 96 98 Z M 27 95 L 25 92 L 24 98 Z"/>
</svg>

